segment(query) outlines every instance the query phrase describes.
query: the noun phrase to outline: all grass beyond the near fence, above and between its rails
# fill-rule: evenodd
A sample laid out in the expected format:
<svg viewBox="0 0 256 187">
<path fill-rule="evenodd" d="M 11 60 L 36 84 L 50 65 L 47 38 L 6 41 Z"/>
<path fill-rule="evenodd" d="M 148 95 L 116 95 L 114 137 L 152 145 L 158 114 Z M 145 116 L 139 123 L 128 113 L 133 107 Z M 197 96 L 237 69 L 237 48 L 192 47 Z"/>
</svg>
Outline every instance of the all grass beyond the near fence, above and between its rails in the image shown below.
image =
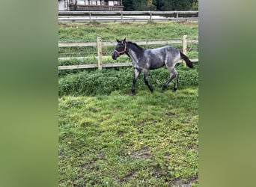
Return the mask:
<svg viewBox="0 0 256 187">
<path fill-rule="evenodd" d="M 102 37 L 103 42 L 115 42 L 127 38 L 133 42 L 141 40 L 182 40 L 198 39 L 198 22 L 153 22 L 153 23 L 60 23 L 58 30 L 59 43 L 96 42 Z M 161 45 L 159 45 L 161 46 Z M 146 49 L 159 47 L 142 46 Z M 164 46 L 164 45 L 162 45 Z M 181 45 L 173 45 L 182 49 Z M 103 46 L 103 55 L 111 56 L 114 46 Z M 188 44 L 189 58 L 198 57 L 198 44 Z M 62 47 L 59 56 L 97 56 L 97 47 Z M 97 62 L 97 61 L 96 61 Z"/>
</svg>

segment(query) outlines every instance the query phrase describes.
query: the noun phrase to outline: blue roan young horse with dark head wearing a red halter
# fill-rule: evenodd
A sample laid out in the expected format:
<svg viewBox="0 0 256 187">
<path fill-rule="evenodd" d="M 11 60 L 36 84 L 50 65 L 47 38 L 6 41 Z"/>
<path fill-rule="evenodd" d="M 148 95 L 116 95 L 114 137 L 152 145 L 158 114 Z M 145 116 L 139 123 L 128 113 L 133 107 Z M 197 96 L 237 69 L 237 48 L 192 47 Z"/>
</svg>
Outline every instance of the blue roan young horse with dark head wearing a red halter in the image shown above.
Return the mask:
<svg viewBox="0 0 256 187">
<path fill-rule="evenodd" d="M 163 46 L 156 49 L 143 49 L 136 43 L 126 41 L 126 39 L 117 40 L 117 42 L 118 44 L 115 47 L 115 52 L 113 53 L 112 58 L 116 60 L 120 55 L 124 55 L 124 53 L 126 53 L 129 58 L 132 59 L 132 65 L 135 71 L 132 84 L 133 95 L 135 95 L 135 83 L 141 71 L 144 73 L 145 84 L 150 91 L 153 92 L 153 88 L 148 83 L 148 73 L 150 70 L 154 70 L 165 65 L 170 73 L 170 78 L 165 82 L 164 85 L 162 85 L 162 91 L 165 91 L 165 88 L 172 79 L 175 80 L 174 91 L 176 91 L 178 73 L 175 69 L 175 65 L 179 62 L 180 57 L 186 61 L 186 65 L 188 67 L 193 68 L 192 61 L 190 61 L 186 55 L 174 47 Z"/>
</svg>

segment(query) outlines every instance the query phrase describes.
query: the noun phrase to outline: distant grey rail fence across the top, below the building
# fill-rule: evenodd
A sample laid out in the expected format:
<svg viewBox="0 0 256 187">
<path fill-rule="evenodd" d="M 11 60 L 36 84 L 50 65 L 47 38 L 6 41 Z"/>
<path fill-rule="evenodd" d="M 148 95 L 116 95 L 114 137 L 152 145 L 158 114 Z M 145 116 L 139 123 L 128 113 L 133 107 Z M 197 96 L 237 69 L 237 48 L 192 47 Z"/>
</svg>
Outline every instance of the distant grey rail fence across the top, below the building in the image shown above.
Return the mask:
<svg viewBox="0 0 256 187">
<path fill-rule="evenodd" d="M 147 22 L 198 20 L 197 11 L 58 11 L 58 22 Z"/>
</svg>

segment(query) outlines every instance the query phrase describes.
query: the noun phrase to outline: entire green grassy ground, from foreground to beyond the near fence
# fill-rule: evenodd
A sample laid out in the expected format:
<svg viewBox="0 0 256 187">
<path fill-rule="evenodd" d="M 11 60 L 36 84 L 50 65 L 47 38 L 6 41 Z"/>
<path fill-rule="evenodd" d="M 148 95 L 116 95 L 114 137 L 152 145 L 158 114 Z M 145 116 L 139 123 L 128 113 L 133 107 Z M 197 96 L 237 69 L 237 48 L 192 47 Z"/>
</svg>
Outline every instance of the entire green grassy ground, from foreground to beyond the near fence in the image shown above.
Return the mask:
<svg viewBox="0 0 256 187">
<path fill-rule="evenodd" d="M 180 40 L 198 38 L 198 25 L 166 23 L 68 23 L 59 25 L 59 42 Z M 147 46 L 149 48 L 153 46 Z M 113 47 L 104 49 L 111 54 Z M 180 46 L 177 46 L 180 49 Z M 198 44 L 189 58 L 198 58 Z M 95 63 L 95 49 L 67 48 Z M 119 59 L 119 58 L 118 58 Z M 127 56 L 119 59 L 130 62 Z M 109 63 L 111 58 L 106 58 Z M 103 62 L 104 63 L 104 62 Z M 164 93 L 166 68 L 150 72 L 154 92 L 138 78 L 131 95 L 132 67 L 58 72 L 59 186 L 198 186 L 198 63 L 179 66 L 179 86 Z"/>
</svg>

